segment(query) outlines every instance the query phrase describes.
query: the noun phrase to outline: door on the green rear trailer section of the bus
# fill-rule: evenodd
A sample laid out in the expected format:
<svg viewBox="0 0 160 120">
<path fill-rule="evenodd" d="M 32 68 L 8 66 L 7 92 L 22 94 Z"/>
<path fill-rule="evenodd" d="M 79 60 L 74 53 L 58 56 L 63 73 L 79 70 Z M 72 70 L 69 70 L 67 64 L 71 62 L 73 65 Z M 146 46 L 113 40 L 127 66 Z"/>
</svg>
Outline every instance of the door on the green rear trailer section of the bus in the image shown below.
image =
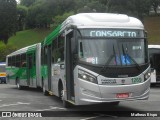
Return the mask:
<svg viewBox="0 0 160 120">
<path fill-rule="evenodd" d="M 27 80 L 28 86 L 33 86 L 33 75 L 34 75 L 34 54 L 27 55 Z"/>
</svg>

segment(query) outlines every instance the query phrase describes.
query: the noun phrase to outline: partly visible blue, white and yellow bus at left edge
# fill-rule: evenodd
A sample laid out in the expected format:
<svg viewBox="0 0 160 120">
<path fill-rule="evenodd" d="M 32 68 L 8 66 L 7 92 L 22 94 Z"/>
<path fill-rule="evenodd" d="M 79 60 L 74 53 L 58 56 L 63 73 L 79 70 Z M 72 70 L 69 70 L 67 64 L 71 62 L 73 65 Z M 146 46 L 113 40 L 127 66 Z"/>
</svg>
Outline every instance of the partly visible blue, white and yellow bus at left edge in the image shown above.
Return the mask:
<svg viewBox="0 0 160 120">
<path fill-rule="evenodd" d="M 0 62 L 0 83 L 6 82 L 6 63 Z"/>
</svg>

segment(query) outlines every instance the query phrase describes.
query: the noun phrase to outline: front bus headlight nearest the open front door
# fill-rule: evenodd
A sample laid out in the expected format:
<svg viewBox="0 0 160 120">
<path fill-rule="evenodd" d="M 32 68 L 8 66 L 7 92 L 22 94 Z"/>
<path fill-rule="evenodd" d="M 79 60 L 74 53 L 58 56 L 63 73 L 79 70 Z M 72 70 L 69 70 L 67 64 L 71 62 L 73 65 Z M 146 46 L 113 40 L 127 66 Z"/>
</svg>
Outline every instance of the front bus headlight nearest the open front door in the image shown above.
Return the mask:
<svg viewBox="0 0 160 120">
<path fill-rule="evenodd" d="M 82 80 L 86 80 L 88 82 L 98 84 L 96 76 L 94 76 L 88 72 L 85 72 L 83 70 L 80 70 L 80 69 L 78 70 L 78 78 L 80 78 Z"/>
</svg>

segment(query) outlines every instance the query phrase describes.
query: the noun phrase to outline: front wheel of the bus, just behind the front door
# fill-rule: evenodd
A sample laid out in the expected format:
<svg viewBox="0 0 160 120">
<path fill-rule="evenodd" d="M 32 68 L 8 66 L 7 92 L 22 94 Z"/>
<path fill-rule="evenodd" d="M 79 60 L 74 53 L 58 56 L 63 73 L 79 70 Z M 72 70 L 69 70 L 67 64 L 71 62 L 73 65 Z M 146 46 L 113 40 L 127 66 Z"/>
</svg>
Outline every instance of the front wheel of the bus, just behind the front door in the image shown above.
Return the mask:
<svg viewBox="0 0 160 120">
<path fill-rule="evenodd" d="M 64 89 L 63 89 L 63 86 L 61 85 L 60 88 L 59 88 L 59 97 L 60 99 L 62 100 L 63 102 L 63 107 L 65 108 L 69 108 L 70 107 L 70 104 L 64 100 Z"/>
</svg>

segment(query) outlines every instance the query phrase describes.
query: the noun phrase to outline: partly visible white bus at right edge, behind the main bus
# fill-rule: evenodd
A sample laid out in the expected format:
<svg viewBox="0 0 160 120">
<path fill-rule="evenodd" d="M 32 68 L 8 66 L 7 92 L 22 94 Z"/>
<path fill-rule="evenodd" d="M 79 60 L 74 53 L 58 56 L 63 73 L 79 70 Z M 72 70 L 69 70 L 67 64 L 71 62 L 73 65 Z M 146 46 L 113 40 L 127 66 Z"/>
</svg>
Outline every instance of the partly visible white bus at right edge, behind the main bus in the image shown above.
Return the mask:
<svg viewBox="0 0 160 120">
<path fill-rule="evenodd" d="M 151 84 L 160 83 L 160 45 L 148 45 L 151 63 Z"/>
</svg>

